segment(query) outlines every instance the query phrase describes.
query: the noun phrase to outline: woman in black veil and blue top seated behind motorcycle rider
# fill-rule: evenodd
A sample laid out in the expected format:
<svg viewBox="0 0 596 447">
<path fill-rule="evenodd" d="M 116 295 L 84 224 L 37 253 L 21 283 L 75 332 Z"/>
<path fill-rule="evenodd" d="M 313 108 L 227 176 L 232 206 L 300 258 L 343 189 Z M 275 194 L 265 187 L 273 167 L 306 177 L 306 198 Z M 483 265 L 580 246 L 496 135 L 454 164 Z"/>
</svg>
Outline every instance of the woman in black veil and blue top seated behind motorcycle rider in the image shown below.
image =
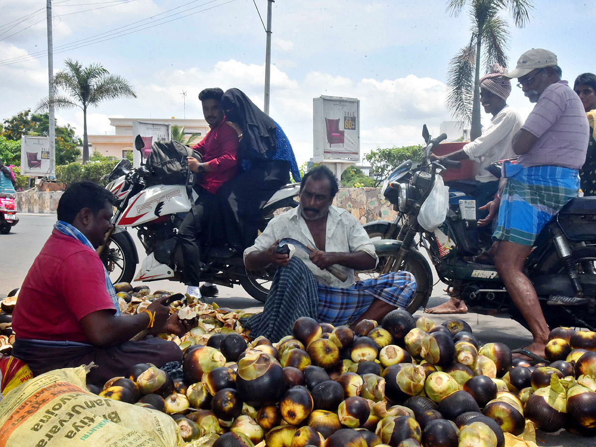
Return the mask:
<svg viewBox="0 0 596 447">
<path fill-rule="evenodd" d="M 260 207 L 275 191 L 300 181 L 296 157 L 287 136 L 271 117 L 237 88 L 222 97 L 226 120 L 238 132 L 238 176 L 222 186 L 218 203 L 227 242 L 242 253 L 254 243 L 259 229 Z"/>
</svg>

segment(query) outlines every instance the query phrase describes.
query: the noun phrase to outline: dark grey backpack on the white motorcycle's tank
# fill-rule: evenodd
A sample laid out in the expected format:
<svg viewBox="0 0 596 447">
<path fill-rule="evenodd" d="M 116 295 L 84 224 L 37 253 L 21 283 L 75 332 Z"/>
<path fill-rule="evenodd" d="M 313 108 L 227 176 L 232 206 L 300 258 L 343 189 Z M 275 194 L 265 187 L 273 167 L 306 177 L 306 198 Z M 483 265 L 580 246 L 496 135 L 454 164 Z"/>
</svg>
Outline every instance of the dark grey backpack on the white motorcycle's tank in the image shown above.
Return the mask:
<svg viewBox="0 0 596 447">
<path fill-rule="evenodd" d="M 145 185 L 184 185 L 188 173 L 187 157 L 201 159 L 200 154 L 175 139 L 154 142 L 145 162 L 149 172 L 145 176 Z"/>
</svg>

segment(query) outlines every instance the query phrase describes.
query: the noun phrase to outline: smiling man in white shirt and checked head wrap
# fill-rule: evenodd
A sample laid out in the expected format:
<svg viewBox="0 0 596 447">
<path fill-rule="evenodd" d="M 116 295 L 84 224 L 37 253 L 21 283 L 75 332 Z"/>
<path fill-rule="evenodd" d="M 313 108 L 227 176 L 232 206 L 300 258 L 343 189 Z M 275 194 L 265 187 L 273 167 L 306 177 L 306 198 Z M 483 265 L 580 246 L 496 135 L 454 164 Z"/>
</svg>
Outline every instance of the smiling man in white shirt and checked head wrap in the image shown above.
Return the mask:
<svg viewBox="0 0 596 447">
<path fill-rule="evenodd" d="M 499 180 L 486 167 L 498 160 L 515 157 L 511 140 L 522 127 L 522 116 L 507 105 L 505 101 L 511 93 L 511 80 L 504 76 L 505 69 L 497 64 L 491 67 L 491 73 L 480 79 L 480 103 L 486 113 L 491 113 L 491 123 L 484 129 L 482 135 L 469 142 L 460 150 L 435 160 L 474 160 L 479 163 L 476 174 L 478 182 L 476 188 L 476 206 L 482 207 L 478 218 L 486 218 L 488 211 L 485 205 L 491 201 L 499 187 Z M 484 223 L 484 222 L 483 222 Z M 492 254 L 492 253 L 490 253 Z M 434 308 L 426 309 L 427 313 L 466 313 L 465 303 L 452 296 L 448 302 Z"/>
</svg>

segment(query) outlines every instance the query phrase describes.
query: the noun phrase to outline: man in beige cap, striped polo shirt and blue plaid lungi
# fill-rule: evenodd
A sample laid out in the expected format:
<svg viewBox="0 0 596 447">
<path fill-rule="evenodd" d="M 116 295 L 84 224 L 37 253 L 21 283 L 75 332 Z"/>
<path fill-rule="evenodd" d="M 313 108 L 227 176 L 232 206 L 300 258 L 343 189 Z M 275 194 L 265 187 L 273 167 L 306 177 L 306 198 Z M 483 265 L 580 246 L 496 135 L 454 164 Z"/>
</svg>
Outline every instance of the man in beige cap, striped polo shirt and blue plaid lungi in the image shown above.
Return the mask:
<svg viewBox="0 0 596 447">
<path fill-rule="evenodd" d="M 544 358 L 550 330 L 523 267 L 542 228 L 578 196 L 589 126 L 582 101 L 561 80 L 557 56 L 551 51 L 524 52 L 516 69 L 505 76 L 517 77 L 517 86 L 536 105 L 513 137 L 519 159 L 515 165 L 505 163 L 505 179 L 493 202 L 500 203 L 493 234 L 499 240 L 495 266 L 532 332 L 533 342 L 513 352 L 538 361 Z M 573 305 L 554 297 L 549 304 Z"/>
</svg>

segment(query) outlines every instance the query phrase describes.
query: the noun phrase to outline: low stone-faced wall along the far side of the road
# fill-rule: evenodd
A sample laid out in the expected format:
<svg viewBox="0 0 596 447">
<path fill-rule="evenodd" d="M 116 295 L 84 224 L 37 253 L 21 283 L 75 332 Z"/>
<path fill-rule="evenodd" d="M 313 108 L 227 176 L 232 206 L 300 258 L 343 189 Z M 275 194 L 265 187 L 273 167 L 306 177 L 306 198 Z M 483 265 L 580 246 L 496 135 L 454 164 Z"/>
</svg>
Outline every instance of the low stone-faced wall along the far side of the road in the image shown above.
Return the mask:
<svg viewBox="0 0 596 447">
<path fill-rule="evenodd" d="M 61 195 L 62 191 L 19 191 L 17 209 L 21 213 L 55 213 Z M 361 224 L 393 221 L 396 215 L 392 205 L 381 199 L 379 188 L 340 188 L 333 204 L 349 210 Z"/>
</svg>

